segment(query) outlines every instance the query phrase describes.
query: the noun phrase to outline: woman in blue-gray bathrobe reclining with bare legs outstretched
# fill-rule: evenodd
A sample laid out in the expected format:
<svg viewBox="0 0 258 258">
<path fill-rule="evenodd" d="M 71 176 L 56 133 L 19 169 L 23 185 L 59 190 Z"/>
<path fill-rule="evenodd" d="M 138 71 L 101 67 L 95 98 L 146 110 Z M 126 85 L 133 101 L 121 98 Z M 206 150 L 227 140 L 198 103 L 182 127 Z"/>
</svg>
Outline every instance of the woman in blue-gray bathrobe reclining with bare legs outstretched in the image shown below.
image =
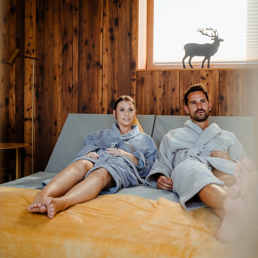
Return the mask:
<svg viewBox="0 0 258 258">
<path fill-rule="evenodd" d="M 113 114 L 117 122 L 111 129 L 88 135 L 75 160 L 37 194 L 28 211 L 47 212 L 54 218 L 58 212 L 98 194 L 112 194 L 145 182 L 157 159 L 157 147 L 138 125 L 132 125 L 136 116 L 133 98 L 119 97 Z"/>
</svg>

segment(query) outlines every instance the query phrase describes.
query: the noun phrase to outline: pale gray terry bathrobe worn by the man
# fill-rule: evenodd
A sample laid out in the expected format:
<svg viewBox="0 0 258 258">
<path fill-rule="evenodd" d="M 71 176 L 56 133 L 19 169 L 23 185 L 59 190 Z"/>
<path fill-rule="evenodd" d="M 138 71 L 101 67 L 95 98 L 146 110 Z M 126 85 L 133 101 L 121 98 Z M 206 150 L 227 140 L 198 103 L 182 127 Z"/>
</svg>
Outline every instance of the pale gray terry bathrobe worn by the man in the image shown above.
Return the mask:
<svg viewBox="0 0 258 258">
<path fill-rule="evenodd" d="M 247 157 L 234 133 L 220 129 L 215 123 L 202 130 L 188 120 L 184 128 L 173 129 L 163 137 L 158 159 L 146 182 L 157 186 L 154 175 L 161 173 L 172 178 L 172 191 L 179 195 L 185 209 L 206 206 L 202 202 L 187 201 L 208 184 L 224 184 L 213 175 L 212 167 L 225 173 L 234 173 L 235 162 L 210 157 L 215 150 L 226 151 L 234 161 Z"/>
</svg>

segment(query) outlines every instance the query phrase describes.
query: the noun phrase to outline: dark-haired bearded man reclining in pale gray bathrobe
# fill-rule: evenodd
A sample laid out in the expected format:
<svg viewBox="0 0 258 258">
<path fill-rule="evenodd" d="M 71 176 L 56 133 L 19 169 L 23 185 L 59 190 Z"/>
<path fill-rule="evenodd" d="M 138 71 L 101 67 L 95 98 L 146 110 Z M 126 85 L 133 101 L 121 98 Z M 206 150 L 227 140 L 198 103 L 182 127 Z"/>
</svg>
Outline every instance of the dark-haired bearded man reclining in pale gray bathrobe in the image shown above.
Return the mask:
<svg viewBox="0 0 258 258">
<path fill-rule="evenodd" d="M 228 189 L 235 185 L 235 164 L 247 155 L 234 133 L 209 125 L 212 103 L 203 85 L 191 86 L 184 100 L 191 120 L 163 137 L 146 182 L 178 194 L 185 209 L 209 206 L 223 220 Z"/>
</svg>

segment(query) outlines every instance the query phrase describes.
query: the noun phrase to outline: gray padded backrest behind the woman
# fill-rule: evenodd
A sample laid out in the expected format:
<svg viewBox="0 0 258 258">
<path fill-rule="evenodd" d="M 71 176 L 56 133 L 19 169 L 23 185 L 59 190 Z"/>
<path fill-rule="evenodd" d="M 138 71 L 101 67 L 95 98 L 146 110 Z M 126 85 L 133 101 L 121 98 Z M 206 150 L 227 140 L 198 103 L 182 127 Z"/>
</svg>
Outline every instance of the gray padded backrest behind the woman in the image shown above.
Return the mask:
<svg viewBox="0 0 258 258">
<path fill-rule="evenodd" d="M 152 135 L 155 116 L 137 115 L 137 119 L 145 133 Z M 109 129 L 115 121 L 112 114 L 68 114 L 45 171 L 63 170 L 74 159 L 87 135 Z"/>
</svg>

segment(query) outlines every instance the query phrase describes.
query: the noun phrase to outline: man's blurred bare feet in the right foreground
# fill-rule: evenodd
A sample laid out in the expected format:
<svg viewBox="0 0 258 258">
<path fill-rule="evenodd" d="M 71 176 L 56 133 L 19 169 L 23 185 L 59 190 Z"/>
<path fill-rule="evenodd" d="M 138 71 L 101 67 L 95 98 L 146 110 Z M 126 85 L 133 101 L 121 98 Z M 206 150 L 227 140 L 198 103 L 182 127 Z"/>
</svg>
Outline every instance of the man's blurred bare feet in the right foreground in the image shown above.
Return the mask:
<svg viewBox="0 0 258 258">
<path fill-rule="evenodd" d="M 254 198 L 258 173 L 251 160 L 238 162 L 235 168 L 236 184 L 229 188 L 224 202 L 225 218 L 217 233 L 217 239 L 233 242 L 256 230 L 257 204 Z"/>
</svg>

